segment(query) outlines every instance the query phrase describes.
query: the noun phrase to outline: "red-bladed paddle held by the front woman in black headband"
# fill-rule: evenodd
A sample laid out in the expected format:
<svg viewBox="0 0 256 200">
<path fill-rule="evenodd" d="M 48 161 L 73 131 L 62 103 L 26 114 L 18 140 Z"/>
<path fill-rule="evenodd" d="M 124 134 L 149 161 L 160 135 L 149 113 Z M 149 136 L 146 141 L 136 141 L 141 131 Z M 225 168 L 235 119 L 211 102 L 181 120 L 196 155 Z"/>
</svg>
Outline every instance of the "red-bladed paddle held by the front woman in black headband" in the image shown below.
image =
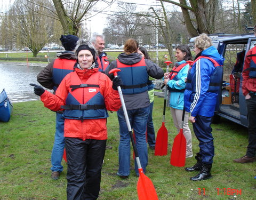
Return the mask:
<svg viewBox="0 0 256 200">
<path fill-rule="evenodd" d="M 117 76 L 117 71 L 121 71 L 121 70 L 117 69 L 117 68 L 111 69 L 109 71 L 109 74 L 113 73 L 114 76 L 116 77 Z M 117 90 L 118 90 L 120 100 L 121 100 L 121 103 L 122 103 L 122 106 L 123 106 L 125 121 L 126 121 L 126 124 L 127 124 L 127 127 L 128 127 L 128 131 L 129 131 L 129 134 L 130 134 L 131 141 L 132 141 L 132 147 L 133 147 L 133 150 L 134 150 L 135 159 L 136 159 L 136 162 L 138 164 L 138 170 L 139 170 L 139 175 L 140 176 L 139 176 L 139 180 L 138 180 L 138 183 L 137 183 L 137 193 L 138 193 L 139 200 L 149 200 L 149 199 L 150 200 L 158 200 L 155 187 L 154 187 L 152 181 L 143 173 L 143 169 L 142 169 L 141 164 L 140 164 L 140 158 L 139 158 L 138 151 L 137 151 L 137 148 L 135 146 L 134 138 L 133 138 L 133 135 L 132 135 L 132 128 L 131 128 L 129 117 L 128 117 L 128 114 L 127 114 L 127 110 L 126 110 L 126 106 L 125 106 L 124 97 L 123 97 L 121 87 L 118 86 Z"/>
</svg>

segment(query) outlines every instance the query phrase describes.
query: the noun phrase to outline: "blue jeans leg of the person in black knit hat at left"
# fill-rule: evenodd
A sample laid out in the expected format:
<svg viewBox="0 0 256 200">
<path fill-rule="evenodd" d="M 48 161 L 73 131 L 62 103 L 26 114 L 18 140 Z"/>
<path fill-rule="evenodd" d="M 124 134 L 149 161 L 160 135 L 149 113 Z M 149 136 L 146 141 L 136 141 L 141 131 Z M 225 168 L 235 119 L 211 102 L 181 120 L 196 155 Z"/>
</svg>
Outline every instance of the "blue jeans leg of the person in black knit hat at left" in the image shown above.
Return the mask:
<svg viewBox="0 0 256 200">
<path fill-rule="evenodd" d="M 51 170 L 62 172 L 63 166 L 61 165 L 63 151 L 65 147 L 64 140 L 64 118 L 62 114 L 56 113 L 56 128 L 55 128 L 55 138 L 52 148 L 52 167 Z"/>
</svg>

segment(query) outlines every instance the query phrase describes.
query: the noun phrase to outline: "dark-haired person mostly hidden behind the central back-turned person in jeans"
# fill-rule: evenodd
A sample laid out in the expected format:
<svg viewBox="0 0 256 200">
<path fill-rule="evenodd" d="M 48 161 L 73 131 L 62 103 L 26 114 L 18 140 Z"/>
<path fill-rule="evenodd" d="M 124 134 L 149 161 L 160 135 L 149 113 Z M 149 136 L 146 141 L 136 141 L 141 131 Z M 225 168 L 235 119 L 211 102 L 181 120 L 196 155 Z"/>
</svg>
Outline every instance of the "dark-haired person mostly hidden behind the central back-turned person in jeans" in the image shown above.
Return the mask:
<svg viewBox="0 0 256 200">
<path fill-rule="evenodd" d="M 148 54 L 148 51 L 144 47 L 139 47 L 138 53 L 144 57 L 145 59 L 151 60 Z M 154 84 L 150 79 L 147 82 L 148 85 L 148 97 L 150 101 L 150 109 L 148 115 L 148 122 L 147 122 L 147 140 L 149 149 L 155 150 L 156 145 L 156 136 L 155 136 L 155 129 L 153 123 L 153 106 L 154 106 Z"/>
</svg>

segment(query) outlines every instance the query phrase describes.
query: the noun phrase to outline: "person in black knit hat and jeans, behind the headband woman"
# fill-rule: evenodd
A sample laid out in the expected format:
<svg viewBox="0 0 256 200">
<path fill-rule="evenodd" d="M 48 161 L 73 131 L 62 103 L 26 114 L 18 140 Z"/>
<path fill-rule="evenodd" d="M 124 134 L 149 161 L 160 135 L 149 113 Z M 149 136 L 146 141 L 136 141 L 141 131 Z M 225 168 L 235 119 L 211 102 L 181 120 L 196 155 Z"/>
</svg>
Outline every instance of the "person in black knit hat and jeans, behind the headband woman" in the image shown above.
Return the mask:
<svg viewBox="0 0 256 200">
<path fill-rule="evenodd" d="M 49 63 L 38 75 L 37 81 L 47 89 L 53 90 L 55 94 L 62 79 L 74 70 L 76 62 L 76 55 L 74 49 L 78 37 L 75 35 L 61 35 L 60 41 L 65 51 L 58 55 L 58 58 Z M 63 171 L 61 165 L 63 151 L 65 147 L 64 141 L 64 118 L 62 117 L 62 111 L 56 111 L 55 121 L 55 137 L 51 155 L 51 177 L 53 180 L 57 180 L 60 177 L 60 173 Z"/>
</svg>

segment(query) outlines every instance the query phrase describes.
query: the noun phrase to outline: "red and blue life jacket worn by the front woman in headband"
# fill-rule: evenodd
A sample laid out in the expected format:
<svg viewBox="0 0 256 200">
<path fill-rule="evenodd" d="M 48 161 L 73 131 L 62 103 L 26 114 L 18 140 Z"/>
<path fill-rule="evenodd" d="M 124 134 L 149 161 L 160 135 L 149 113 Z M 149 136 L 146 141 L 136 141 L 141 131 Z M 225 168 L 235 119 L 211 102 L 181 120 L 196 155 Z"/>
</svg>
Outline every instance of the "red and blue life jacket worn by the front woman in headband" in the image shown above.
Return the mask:
<svg viewBox="0 0 256 200">
<path fill-rule="evenodd" d="M 92 74 L 85 84 L 81 83 L 76 72 L 70 75 L 66 105 L 61 106 L 65 109 L 64 118 L 83 120 L 108 117 L 104 97 L 100 93 L 100 74 L 99 71 Z"/>
</svg>

